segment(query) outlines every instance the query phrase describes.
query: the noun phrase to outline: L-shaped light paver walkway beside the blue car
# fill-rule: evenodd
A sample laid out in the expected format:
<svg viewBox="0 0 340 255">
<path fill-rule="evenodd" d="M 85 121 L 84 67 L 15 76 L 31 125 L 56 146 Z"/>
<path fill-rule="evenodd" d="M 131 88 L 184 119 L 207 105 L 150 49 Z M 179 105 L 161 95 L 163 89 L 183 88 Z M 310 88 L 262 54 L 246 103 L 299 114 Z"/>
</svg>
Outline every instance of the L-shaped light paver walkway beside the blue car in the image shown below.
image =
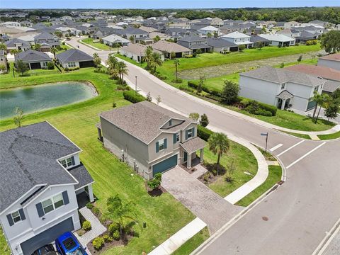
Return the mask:
<svg viewBox="0 0 340 255">
<path fill-rule="evenodd" d="M 79 209 L 79 212 L 85 220 L 88 220 L 91 222 L 91 230 L 83 234 L 81 237 L 77 232 L 74 232 L 74 235 L 77 237 L 81 245 L 86 246 L 89 242 L 91 242 L 92 239 L 98 237 L 99 235 L 103 234 L 103 232 L 106 232 L 106 227 L 104 227 L 101 222 L 98 220 L 98 217 L 94 215 L 89 208 L 81 208 Z"/>
</svg>

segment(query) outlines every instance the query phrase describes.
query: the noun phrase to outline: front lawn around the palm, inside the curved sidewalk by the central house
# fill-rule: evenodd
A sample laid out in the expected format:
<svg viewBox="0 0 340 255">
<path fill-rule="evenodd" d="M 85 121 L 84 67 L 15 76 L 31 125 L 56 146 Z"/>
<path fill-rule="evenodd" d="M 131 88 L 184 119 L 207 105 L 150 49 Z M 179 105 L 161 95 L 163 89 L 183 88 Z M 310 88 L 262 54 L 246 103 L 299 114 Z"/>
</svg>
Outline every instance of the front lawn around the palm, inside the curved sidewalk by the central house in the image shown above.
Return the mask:
<svg viewBox="0 0 340 255">
<path fill-rule="evenodd" d="M 214 164 L 217 162 L 217 155 L 214 155 L 208 147 L 204 150 L 205 161 Z M 215 191 L 220 196 L 225 197 L 232 193 L 247 181 L 251 180 L 257 173 L 257 161 L 254 154 L 246 147 L 230 141 L 230 149 L 227 154 L 220 159 L 220 164 L 227 167 L 231 159 L 234 158 L 236 170 L 232 174 L 233 181 L 225 181 L 225 175 L 219 176 L 216 181 L 208 185 L 212 191 Z M 247 172 L 249 174 L 245 174 Z"/>
</svg>

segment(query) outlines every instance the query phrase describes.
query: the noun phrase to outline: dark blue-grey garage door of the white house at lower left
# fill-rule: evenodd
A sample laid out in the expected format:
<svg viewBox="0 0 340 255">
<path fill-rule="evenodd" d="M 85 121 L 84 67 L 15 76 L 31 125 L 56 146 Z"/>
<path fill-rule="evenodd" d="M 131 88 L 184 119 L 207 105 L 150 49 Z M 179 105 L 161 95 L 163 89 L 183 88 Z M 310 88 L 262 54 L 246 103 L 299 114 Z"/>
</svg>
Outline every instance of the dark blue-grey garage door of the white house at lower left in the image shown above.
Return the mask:
<svg viewBox="0 0 340 255">
<path fill-rule="evenodd" d="M 24 255 L 30 255 L 36 249 L 44 246 L 45 244 L 50 244 L 51 242 L 55 241 L 57 237 L 64 232 L 73 231 L 73 220 L 72 217 L 69 217 L 67 220 L 64 220 L 57 225 L 50 227 L 49 229 L 41 232 L 40 234 L 35 235 L 31 239 L 23 242 L 21 244 L 21 249 L 23 250 Z"/>
</svg>

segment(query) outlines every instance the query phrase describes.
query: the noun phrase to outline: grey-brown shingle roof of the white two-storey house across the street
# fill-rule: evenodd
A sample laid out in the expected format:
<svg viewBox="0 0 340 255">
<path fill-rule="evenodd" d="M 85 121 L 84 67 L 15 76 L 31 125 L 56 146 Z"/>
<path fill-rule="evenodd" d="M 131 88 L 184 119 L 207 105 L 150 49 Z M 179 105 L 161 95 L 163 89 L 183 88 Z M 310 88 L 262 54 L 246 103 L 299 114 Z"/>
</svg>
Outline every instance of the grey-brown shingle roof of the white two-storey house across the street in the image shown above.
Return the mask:
<svg viewBox="0 0 340 255">
<path fill-rule="evenodd" d="M 295 84 L 303 84 L 313 87 L 324 84 L 325 82 L 324 79 L 319 79 L 310 74 L 303 74 L 300 72 L 273 67 L 261 67 L 250 72 L 241 73 L 239 75 L 255 79 L 262 79 L 264 81 L 271 81 L 277 84 L 283 84 L 287 81 L 290 81 Z"/>
</svg>

